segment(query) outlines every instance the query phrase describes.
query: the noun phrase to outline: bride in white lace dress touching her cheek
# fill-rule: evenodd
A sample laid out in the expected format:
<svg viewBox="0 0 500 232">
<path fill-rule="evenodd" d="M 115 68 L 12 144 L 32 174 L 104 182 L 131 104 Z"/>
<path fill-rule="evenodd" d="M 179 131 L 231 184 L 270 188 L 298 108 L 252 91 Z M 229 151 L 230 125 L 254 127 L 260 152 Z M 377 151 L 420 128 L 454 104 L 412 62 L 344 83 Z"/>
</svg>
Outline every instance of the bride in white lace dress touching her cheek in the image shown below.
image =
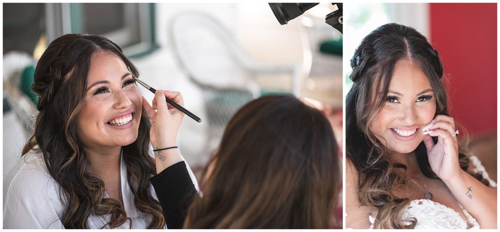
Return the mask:
<svg viewBox="0 0 500 232">
<path fill-rule="evenodd" d="M 459 148 L 437 51 L 411 27 L 368 34 L 346 97 L 346 226 L 496 228 L 496 183 Z"/>
</svg>

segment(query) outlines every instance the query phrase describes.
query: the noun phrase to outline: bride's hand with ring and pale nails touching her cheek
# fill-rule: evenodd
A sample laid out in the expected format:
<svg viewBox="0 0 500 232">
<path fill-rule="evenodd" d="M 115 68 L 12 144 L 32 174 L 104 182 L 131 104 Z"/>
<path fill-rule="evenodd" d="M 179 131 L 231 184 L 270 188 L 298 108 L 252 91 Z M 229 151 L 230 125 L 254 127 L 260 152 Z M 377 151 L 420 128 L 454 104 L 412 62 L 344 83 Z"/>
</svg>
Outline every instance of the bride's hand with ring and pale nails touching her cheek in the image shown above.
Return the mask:
<svg viewBox="0 0 500 232">
<path fill-rule="evenodd" d="M 427 157 L 432 171 L 443 181 L 450 181 L 462 170 L 458 163 L 458 140 L 453 118 L 437 115 L 429 128 L 431 133 L 425 135 L 423 143 L 427 148 Z M 434 144 L 432 137 L 437 137 Z"/>
</svg>

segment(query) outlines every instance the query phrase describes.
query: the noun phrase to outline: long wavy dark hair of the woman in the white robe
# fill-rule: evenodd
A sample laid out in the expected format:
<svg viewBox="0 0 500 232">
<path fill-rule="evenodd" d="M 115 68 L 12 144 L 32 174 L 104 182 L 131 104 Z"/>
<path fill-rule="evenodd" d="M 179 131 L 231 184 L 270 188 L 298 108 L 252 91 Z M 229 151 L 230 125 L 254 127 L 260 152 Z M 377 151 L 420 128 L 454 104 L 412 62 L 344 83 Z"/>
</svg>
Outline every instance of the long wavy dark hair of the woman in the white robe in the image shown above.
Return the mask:
<svg viewBox="0 0 500 232">
<path fill-rule="evenodd" d="M 107 225 L 120 226 L 128 216 L 123 205 L 104 199 L 104 182 L 89 170 L 89 161 L 76 133 L 76 116 L 83 103 L 92 55 L 98 51 L 119 57 L 130 73 L 138 77 L 135 66 L 121 48 L 101 36 L 66 34 L 52 41 L 40 57 L 34 72 L 33 90 L 39 97 L 33 136 L 22 154 L 41 152 L 50 176 L 60 186 L 64 204 L 60 215 L 66 229 L 85 229 L 90 215 L 111 215 Z M 149 178 L 156 174 L 148 155 L 150 119 L 142 109 L 137 139 L 124 146 L 123 160 L 127 181 L 137 209 L 151 216 L 148 228 L 163 228 L 165 221 L 159 203 L 151 196 Z"/>
</svg>

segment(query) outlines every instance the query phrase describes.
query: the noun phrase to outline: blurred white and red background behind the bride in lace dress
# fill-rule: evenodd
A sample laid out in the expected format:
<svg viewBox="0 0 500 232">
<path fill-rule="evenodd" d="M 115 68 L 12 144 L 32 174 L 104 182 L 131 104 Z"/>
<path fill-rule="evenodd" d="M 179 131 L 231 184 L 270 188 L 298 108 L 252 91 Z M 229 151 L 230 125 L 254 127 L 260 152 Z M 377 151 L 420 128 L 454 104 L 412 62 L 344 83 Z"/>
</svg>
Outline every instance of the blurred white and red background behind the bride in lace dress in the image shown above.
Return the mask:
<svg viewBox="0 0 500 232">
<path fill-rule="evenodd" d="M 496 3 L 345 3 L 346 92 L 352 86 L 350 58 L 361 39 L 378 26 L 411 26 L 439 52 L 448 110 L 492 180 L 496 181 Z M 464 136 L 468 132 L 467 136 Z"/>
</svg>

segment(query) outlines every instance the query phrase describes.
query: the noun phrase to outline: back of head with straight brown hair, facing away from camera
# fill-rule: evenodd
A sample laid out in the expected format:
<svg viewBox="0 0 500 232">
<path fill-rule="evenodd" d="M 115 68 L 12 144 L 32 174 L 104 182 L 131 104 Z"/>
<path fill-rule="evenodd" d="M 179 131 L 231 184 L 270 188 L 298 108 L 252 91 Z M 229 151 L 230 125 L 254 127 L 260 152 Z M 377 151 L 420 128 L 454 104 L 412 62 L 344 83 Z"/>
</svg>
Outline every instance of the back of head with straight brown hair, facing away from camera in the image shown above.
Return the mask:
<svg viewBox="0 0 500 232">
<path fill-rule="evenodd" d="M 327 229 L 340 191 L 337 152 L 320 110 L 290 95 L 253 100 L 229 121 L 184 227 Z"/>
</svg>

